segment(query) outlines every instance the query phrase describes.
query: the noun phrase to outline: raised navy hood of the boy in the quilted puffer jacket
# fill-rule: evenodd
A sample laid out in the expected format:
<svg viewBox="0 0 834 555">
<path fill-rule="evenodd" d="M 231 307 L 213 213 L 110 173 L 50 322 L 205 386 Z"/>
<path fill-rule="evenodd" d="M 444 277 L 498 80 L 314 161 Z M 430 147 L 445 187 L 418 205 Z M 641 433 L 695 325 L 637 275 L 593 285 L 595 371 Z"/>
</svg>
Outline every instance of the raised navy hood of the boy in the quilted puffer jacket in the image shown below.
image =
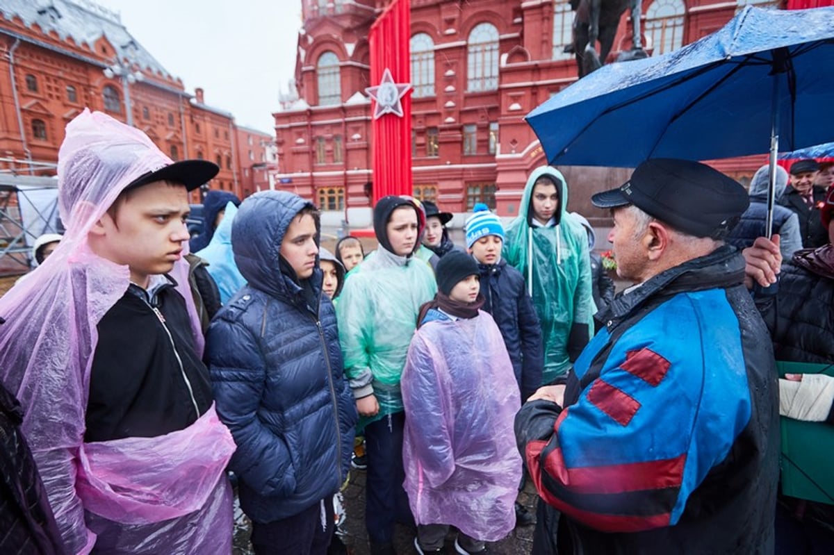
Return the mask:
<svg viewBox="0 0 834 555">
<path fill-rule="evenodd" d="M 232 224 L 234 262 L 250 286 L 284 298 L 300 291 L 292 278 L 281 273 L 279 253 L 289 224 L 307 207 L 314 205 L 285 191 L 255 193 L 240 204 Z M 319 243 L 318 233 L 315 241 Z M 316 268 L 311 279 L 320 283 L 320 274 Z"/>
</svg>

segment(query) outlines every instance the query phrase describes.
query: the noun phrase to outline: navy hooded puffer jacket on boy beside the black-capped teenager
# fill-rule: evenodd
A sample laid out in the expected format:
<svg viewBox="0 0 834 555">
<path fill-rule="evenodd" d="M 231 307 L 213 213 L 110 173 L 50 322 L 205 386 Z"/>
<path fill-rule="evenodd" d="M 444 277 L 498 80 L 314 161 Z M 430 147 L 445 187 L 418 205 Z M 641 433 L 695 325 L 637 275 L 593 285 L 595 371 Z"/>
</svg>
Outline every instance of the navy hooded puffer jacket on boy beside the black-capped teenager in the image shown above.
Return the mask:
<svg viewBox="0 0 834 555">
<path fill-rule="evenodd" d="M 275 191 L 241 204 L 232 245 L 248 283 L 206 338 L 219 417 L 238 445 L 230 467 L 240 504 L 256 522 L 291 517 L 336 493 L 353 450 L 356 408 L 321 271 L 305 294 L 279 269 L 284 233 L 306 206 Z"/>
</svg>

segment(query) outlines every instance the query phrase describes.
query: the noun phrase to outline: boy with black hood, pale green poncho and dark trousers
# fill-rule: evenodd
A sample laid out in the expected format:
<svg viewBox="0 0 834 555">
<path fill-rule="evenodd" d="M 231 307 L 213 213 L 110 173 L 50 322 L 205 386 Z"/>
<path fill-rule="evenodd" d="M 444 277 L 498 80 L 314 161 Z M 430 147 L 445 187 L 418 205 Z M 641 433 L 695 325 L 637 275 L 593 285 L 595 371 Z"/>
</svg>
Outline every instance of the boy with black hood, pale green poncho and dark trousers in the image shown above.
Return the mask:
<svg viewBox="0 0 834 555">
<path fill-rule="evenodd" d="M 435 296 L 435 276 L 414 258 L 425 218 L 410 197 L 389 196 L 374 207 L 379 248 L 345 280 L 336 312 L 344 368 L 367 444 L 365 523 L 371 553 L 394 553 L 394 522 L 412 520 L 403 489 L 405 366 L 417 313 Z"/>
</svg>

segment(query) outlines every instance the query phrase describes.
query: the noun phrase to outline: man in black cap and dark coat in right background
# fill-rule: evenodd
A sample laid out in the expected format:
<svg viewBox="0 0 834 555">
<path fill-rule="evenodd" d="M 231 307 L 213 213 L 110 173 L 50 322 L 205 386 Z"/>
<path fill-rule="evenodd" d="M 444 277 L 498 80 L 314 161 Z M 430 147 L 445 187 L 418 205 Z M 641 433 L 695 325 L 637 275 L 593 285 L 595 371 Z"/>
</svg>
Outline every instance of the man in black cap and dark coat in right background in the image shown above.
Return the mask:
<svg viewBox="0 0 834 555">
<path fill-rule="evenodd" d="M 822 227 L 820 220 L 820 207 L 826 198 L 826 189 L 814 184 L 819 170 L 819 164 L 813 159 L 791 164 L 791 184 L 780 201 L 799 218 L 799 233 L 804 248 L 817 248 L 828 243 L 828 231 Z"/>
</svg>

